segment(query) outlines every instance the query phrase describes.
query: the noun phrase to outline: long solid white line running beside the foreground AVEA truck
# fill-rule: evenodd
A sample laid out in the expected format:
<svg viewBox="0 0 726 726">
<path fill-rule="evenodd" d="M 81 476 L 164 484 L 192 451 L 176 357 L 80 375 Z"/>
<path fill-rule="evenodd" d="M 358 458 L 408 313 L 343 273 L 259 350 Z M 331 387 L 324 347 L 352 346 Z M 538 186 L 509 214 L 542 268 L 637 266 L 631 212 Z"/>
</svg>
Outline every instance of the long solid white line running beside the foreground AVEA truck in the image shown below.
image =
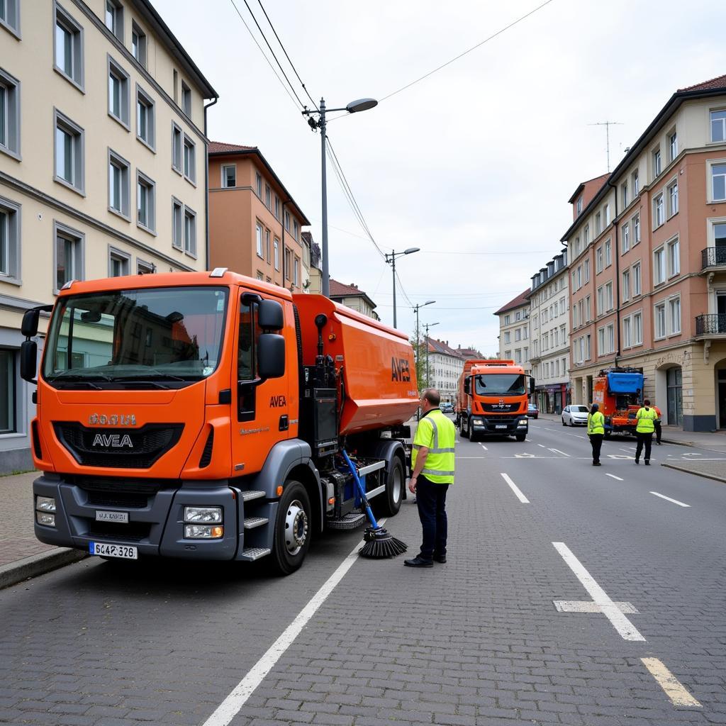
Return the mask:
<svg viewBox="0 0 726 726">
<path fill-rule="evenodd" d="M 383 525 L 385 519 L 378 522 Z M 285 650 L 290 648 L 295 638 L 300 635 L 302 629 L 308 624 L 312 616 L 317 612 L 322 603 L 325 603 L 335 586 L 343 579 L 346 572 L 359 559 L 358 550 L 363 546 L 364 541 L 358 542 L 353 551 L 338 566 L 338 569 L 327 579 L 322 587 L 311 597 L 308 604 L 298 613 L 295 619 L 282 632 L 282 635 L 275 640 L 266 653 L 252 666 L 242 680 L 237 683 L 229 696 L 217 706 L 216 711 L 204 722 L 203 726 L 227 726 L 230 721 L 240 712 L 247 699 L 252 696 L 255 689 L 264 680 L 266 675 L 273 669 Z"/>
</svg>

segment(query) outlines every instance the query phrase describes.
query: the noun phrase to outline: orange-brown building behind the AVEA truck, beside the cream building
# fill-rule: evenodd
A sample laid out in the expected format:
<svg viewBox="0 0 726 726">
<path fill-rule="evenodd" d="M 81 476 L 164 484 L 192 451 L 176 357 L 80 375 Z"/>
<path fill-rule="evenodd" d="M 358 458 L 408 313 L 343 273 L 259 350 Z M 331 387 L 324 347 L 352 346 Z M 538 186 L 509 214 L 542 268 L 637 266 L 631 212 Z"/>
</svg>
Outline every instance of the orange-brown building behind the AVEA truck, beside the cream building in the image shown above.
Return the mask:
<svg viewBox="0 0 726 726">
<path fill-rule="evenodd" d="M 303 290 L 307 217 L 257 147 L 209 144 L 212 267 Z"/>
</svg>

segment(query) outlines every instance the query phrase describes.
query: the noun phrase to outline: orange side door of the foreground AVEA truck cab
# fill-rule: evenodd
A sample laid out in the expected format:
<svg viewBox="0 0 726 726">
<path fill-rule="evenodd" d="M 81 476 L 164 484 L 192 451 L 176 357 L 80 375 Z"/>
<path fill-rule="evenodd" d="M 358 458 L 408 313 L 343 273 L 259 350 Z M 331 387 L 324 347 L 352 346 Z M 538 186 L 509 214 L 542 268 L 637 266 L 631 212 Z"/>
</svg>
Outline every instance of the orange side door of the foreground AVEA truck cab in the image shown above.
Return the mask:
<svg viewBox="0 0 726 726">
<path fill-rule="evenodd" d="M 232 406 L 236 421 L 232 432 L 232 467 L 236 473 L 261 470 L 270 449 L 287 439 L 290 428 L 287 374 L 261 381 L 258 375 L 257 293 L 242 293 L 237 320 L 237 386 Z"/>
</svg>

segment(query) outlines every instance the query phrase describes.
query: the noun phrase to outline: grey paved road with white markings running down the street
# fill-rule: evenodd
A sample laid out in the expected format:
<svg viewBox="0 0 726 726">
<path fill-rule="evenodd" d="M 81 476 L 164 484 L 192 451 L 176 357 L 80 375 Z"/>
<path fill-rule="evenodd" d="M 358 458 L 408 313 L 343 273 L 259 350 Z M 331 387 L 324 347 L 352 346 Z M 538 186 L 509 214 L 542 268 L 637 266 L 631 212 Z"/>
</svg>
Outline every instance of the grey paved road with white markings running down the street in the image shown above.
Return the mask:
<svg viewBox="0 0 726 726">
<path fill-rule="evenodd" d="M 658 466 L 726 455 L 634 447 L 593 468 L 582 429 L 544 420 L 460 441 L 431 569 L 348 558 L 354 531 L 285 579 L 91 558 L 4 590 L 0 722 L 726 723 L 726 486 Z M 411 499 L 386 526 L 417 550 Z"/>
</svg>

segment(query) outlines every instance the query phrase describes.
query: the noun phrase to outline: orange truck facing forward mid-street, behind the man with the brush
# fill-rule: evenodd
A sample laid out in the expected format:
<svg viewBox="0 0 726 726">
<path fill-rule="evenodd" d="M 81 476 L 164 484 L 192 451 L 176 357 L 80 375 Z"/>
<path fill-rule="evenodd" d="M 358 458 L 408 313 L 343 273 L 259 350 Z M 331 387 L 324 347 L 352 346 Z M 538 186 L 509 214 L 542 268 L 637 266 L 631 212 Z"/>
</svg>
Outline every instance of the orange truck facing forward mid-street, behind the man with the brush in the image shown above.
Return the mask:
<svg viewBox="0 0 726 726">
<path fill-rule="evenodd" d="M 527 404 L 534 378 L 514 361 L 468 360 L 459 376 L 456 421 L 462 436 L 515 436 L 524 441 L 529 431 Z"/>
</svg>

